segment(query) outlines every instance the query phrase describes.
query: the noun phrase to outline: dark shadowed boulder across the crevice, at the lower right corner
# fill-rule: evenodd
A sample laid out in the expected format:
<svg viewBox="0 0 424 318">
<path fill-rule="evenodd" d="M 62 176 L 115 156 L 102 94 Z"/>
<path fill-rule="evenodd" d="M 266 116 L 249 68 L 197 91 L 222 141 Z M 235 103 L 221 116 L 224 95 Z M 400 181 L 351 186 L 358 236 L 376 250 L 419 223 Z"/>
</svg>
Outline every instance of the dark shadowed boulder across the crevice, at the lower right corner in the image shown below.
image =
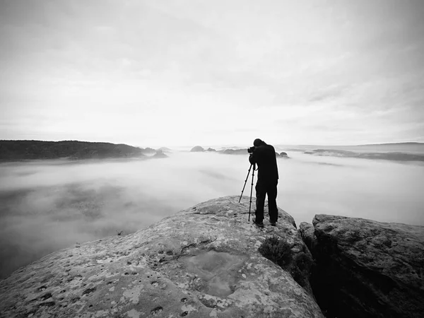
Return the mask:
<svg viewBox="0 0 424 318">
<path fill-rule="evenodd" d="M 332 317 L 423 317 L 424 227 L 317 215 L 302 235 L 314 295 Z"/>
</svg>

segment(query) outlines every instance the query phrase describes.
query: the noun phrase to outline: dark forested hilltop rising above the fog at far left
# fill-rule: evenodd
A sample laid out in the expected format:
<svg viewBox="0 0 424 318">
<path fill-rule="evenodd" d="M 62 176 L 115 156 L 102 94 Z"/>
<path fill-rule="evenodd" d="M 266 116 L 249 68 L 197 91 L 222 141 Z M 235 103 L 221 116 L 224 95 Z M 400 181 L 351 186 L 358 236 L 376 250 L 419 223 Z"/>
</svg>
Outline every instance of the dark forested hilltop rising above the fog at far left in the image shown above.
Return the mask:
<svg viewBox="0 0 424 318">
<path fill-rule="evenodd" d="M 103 159 L 143 156 L 143 148 L 123 143 L 86 141 L 1 140 L 0 161 L 35 159 Z"/>
</svg>

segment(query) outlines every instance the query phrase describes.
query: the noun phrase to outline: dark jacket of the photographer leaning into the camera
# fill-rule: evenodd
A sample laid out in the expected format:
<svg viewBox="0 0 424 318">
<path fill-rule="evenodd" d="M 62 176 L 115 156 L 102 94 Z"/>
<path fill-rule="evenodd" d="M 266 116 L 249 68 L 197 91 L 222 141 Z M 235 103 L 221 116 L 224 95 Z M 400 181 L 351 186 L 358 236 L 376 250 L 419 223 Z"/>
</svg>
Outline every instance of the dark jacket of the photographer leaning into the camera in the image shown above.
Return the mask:
<svg viewBox="0 0 424 318">
<path fill-rule="evenodd" d="M 276 182 L 278 180 L 278 167 L 276 151 L 273 146 L 262 143 L 255 147 L 249 162 L 258 165 L 258 180 L 263 182 Z"/>
</svg>

